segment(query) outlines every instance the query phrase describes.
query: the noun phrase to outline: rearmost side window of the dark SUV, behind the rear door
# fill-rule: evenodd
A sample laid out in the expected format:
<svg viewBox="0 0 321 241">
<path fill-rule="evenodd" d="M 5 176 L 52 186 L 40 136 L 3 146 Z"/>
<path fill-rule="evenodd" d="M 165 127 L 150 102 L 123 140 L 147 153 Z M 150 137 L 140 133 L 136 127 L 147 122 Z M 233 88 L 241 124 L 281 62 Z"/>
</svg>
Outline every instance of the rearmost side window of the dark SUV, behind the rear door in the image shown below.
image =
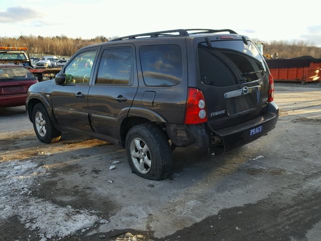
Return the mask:
<svg viewBox="0 0 321 241">
<path fill-rule="evenodd" d="M 183 78 L 179 45 L 149 45 L 139 48 L 141 70 L 148 86 L 174 86 Z"/>
</svg>

